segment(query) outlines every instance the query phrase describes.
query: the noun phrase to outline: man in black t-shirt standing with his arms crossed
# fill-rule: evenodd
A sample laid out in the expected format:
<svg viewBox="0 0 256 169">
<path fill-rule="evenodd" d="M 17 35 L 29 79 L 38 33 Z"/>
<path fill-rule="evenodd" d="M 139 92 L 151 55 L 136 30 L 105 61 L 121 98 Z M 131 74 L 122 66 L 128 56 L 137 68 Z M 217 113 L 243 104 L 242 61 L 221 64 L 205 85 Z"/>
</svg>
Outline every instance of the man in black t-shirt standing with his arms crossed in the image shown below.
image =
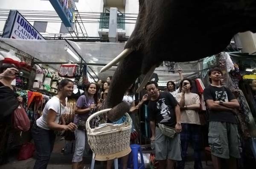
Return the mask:
<svg viewBox="0 0 256 169">
<path fill-rule="evenodd" d="M 219 68 L 209 71 L 211 85 L 204 89 L 204 100 L 209 108 L 209 145 L 215 169 L 221 169 L 220 158 L 229 159 L 230 169 L 236 169 L 239 154 L 239 134 L 234 109 L 239 103 L 227 87 L 221 86 L 222 72 Z"/>
</svg>

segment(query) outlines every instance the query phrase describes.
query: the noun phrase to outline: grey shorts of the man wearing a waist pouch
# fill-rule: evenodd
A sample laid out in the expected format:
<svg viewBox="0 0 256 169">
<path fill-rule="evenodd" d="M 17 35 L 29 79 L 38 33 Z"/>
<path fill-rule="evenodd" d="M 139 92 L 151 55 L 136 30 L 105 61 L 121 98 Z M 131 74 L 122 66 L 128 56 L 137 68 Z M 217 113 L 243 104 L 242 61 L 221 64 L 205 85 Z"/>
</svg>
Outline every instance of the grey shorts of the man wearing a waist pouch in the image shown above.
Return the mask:
<svg viewBox="0 0 256 169">
<path fill-rule="evenodd" d="M 180 134 L 175 135 L 174 138 L 169 138 L 166 135 L 163 135 L 161 130 L 156 127 L 154 149 L 156 160 L 182 160 Z"/>
</svg>

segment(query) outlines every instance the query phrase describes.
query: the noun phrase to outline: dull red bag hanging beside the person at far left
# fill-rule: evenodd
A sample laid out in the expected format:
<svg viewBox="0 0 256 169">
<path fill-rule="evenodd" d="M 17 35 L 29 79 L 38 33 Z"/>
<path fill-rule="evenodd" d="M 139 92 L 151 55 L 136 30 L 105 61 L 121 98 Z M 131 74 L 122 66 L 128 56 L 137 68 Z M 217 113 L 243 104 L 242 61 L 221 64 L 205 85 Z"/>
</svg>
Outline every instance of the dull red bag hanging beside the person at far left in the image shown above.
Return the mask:
<svg viewBox="0 0 256 169">
<path fill-rule="evenodd" d="M 13 127 L 17 130 L 28 131 L 30 128 L 29 117 L 21 105 L 14 110 L 12 121 Z"/>
</svg>

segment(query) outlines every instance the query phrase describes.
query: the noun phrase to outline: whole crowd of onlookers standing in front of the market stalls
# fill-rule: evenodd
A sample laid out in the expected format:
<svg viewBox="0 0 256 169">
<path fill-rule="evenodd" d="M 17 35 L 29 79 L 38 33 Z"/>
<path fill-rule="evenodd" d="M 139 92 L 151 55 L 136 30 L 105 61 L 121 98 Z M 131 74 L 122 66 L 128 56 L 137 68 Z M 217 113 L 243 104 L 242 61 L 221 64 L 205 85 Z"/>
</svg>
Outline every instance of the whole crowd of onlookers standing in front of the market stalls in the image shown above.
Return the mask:
<svg viewBox="0 0 256 169">
<path fill-rule="evenodd" d="M 11 85 L 18 70 L 14 66 L 0 68 L 0 87 L 9 87 L 10 92 L 15 92 Z M 136 113 L 140 106 L 148 100 L 149 121 L 151 127 L 151 147 L 155 152 L 155 159 L 159 161 L 159 169 L 184 169 L 187 148 L 189 143 L 194 149 L 194 168 L 202 169 L 201 163 L 201 123 L 198 110 L 201 107 L 199 96 L 191 92 L 192 82 L 183 79 L 180 74 L 180 85 L 169 81 L 167 91 L 160 92 L 155 82 L 145 85 L 147 94 L 135 105 L 135 93 L 132 84 L 125 91 L 122 101 L 130 106 L 129 113 Z M 236 158 L 239 155 L 239 134 L 235 110 L 239 103 L 230 89 L 221 85 L 222 72 L 219 68 L 209 70 L 209 82 L 211 85 L 204 89 L 204 100 L 209 110 L 209 146 L 212 153 L 212 162 L 215 169 L 220 169 L 221 158 L 229 159 L 229 166 L 236 169 Z M 74 132 L 76 148 L 72 160 L 72 169 L 82 166 L 82 158 L 85 149 L 90 149 L 87 144 L 85 122 L 87 118 L 101 109 L 107 99 L 112 76 L 106 81 L 87 85 L 84 95 L 76 101 L 74 121 L 65 124 L 61 115 L 66 111 L 66 98 L 73 93 L 74 82 L 64 79 L 58 83 L 58 94 L 53 96 L 44 107 L 42 116 L 32 126 L 32 138 L 36 147 L 36 162 L 34 169 L 46 169 L 54 146 L 58 131 Z M 17 102 L 22 101 L 17 97 Z M 0 127 L 8 127 L 10 117 Z M 102 115 L 93 121 L 94 126 L 101 123 L 121 124 L 126 120 L 123 116 L 118 121 L 110 121 L 106 115 Z M 136 139 L 138 133 L 132 124 L 131 141 Z M 122 157 L 122 168 L 127 168 L 128 155 Z M 177 162 L 177 163 L 176 163 Z M 107 169 L 111 169 L 113 161 L 107 162 Z"/>
</svg>

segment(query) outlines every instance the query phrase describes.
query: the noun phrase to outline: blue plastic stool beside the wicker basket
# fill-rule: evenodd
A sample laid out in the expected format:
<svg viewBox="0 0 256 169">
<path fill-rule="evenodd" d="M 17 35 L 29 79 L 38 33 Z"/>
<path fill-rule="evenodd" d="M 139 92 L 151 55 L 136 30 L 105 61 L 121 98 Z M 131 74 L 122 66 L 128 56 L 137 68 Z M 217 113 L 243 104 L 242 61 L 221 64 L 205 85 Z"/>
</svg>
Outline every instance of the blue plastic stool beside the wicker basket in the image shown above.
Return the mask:
<svg viewBox="0 0 256 169">
<path fill-rule="evenodd" d="M 145 169 L 145 164 L 143 160 L 143 154 L 140 149 L 140 145 L 138 144 L 131 144 L 131 153 L 129 155 L 129 164 L 128 166 L 131 167 L 131 163 L 133 163 L 133 169 Z M 138 163 L 138 151 L 140 150 L 140 160 L 141 163 Z M 132 162 L 131 162 L 131 155 L 132 155 Z M 128 168 L 129 169 L 129 168 Z"/>
</svg>

